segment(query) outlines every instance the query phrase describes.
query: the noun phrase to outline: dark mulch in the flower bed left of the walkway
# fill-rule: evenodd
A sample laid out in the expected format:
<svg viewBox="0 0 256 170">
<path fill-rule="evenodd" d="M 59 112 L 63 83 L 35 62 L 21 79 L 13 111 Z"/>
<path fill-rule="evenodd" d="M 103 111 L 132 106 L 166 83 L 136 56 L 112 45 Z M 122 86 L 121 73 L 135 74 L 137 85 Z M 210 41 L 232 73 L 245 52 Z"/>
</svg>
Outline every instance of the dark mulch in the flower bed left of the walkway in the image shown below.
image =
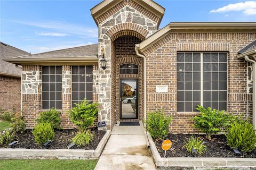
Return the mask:
<svg viewBox="0 0 256 170">
<path fill-rule="evenodd" d="M 92 128 L 91 131 L 95 133 L 93 141 L 85 147 L 74 146 L 71 149 L 96 149 L 105 131 L 98 131 L 97 128 Z M 48 148 L 44 146 L 39 146 L 32 134 L 32 130 L 27 129 L 23 134 L 16 134 L 19 142 L 15 144 L 12 148 L 26 148 L 26 149 L 68 149 L 71 138 L 75 137 L 78 133 L 77 129 L 65 129 L 65 130 L 55 130 L 55 135 L 53 141 L 50 143 Z"/>
</svg>

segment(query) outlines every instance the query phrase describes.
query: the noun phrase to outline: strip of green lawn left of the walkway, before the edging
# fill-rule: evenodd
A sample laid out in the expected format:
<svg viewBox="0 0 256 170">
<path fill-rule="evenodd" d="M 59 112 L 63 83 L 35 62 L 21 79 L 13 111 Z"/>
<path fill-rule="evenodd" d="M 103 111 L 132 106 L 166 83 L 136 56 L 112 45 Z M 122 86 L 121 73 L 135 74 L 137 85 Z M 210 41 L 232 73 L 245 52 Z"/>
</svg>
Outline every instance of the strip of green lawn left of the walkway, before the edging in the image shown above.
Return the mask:
<svg viewBox="0 0 256 170">
<path fill-rule="evenodd" d="M 1 170 L 26 170 L 26 169 L 83 169 L 93 170 L 98 160 L 32 160 L 32 159 L 13 159 L 0 160 Z"/>
</svg>

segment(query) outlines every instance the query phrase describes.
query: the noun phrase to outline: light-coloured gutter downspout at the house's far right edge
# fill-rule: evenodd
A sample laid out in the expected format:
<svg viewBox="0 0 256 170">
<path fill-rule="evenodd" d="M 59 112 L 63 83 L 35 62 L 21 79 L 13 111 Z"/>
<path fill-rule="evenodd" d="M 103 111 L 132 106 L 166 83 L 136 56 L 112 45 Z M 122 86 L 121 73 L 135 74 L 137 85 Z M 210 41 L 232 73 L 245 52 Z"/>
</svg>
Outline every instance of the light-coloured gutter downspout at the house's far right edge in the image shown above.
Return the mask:
<svg viewBox="0 0 256 170">
<path fill-rule="evenodd" d="M 255 65 L 256 65 L 256 61 L 255 61 L 255 58 L 253 57 L 254 60 L 251 60 L 249 58 L 249 56 L 244 56 L 244 59 L 246 62 L 249 62 L 249 63 L 252 63 L 252 80 L 254 81 L 255 80 L 255 75 L 256 75 L 256 68 L 255 68 Z M 252 83 L 252 124 L 253 124 L 253 129 L 256 130 L 256 113 L 255 113 L 255 105 L 256 105 L 256 83 L 253 82 Z"/>
</svg>

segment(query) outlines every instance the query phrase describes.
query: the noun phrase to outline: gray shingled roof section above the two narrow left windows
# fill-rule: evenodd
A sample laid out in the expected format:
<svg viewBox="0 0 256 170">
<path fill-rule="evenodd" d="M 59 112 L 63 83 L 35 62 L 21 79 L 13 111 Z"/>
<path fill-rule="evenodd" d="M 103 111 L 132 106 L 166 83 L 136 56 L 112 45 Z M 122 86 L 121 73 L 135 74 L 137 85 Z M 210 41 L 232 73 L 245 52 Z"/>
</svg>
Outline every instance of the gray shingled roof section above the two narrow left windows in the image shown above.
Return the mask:
<svg viewBox="0 0 256 170">
<path fill-rule="evenodd" d="M 28 59 L 28 58 L 76 58 L 76 57 L 97 57 L 98 54 L 98 44 L 92 44 L 81 47 L 73 47 L 67 49 L 59 49 L 51 52 L 44 52 L 38 54 L 31 54 L 25 56 L 19 56 L 15 58 Z"/>
</svg>

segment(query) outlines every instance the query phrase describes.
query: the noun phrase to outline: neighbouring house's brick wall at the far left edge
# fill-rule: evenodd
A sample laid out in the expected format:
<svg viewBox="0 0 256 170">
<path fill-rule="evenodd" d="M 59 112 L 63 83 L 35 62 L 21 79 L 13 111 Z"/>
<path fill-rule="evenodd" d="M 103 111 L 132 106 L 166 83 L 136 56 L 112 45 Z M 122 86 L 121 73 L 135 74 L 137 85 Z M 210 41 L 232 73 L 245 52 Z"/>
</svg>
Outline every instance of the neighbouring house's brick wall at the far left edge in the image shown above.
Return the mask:
<svg viewBox="0 0 256 170">
<path fill-rule="evenodd" d="M 0 76 L 0 108 L 20 111 L 20 78 Z"/>
</svg>

